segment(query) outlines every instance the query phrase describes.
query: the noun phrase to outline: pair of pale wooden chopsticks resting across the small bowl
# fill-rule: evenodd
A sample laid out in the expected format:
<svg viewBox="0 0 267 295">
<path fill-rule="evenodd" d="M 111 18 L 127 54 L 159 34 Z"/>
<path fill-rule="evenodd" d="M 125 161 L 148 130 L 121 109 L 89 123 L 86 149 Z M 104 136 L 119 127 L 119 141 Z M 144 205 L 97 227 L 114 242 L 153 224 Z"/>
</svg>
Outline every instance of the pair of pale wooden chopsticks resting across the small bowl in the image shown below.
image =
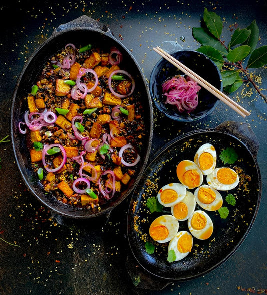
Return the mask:
<svg viewBox="0 0 267 295">
<path fill-rule="evenodd" d="M 227 95 L 225 95 L 223 92 L 221 92 L 219 89 L 211 85 L 208 81 L 197 75 L 195 72 L 190 70 L 188 67 L 186 67 L 184 64 L 182 64 L 180 61 L 175 59 L 173 56 L 168 54 L 166 51 L 161 49 L 160 47 L 154 47 L 154 51 L 156 51 L 159 55 L 161 55 L 163 58 L 165 58 L 167 61 L 169 61 L 171 64 L 179 68 L 183 73 L 185 73 L 187 76 L 195 80 L 199 85 L 203 86 L 205 89 L 207 89 L 210 93 L 215 95 L 217 98 L 219 98 L 221 101 L 223 101 L 225 104 L 227 104 L 230 108 L 235 110 L 239 115 L 241 115 L 243 118 L 250 115 L 250 112 L 244 109 L 242 106 L 240 106 L 238 103 L 233 101 L 231 98 L 229 98 Z"/>
</svg>

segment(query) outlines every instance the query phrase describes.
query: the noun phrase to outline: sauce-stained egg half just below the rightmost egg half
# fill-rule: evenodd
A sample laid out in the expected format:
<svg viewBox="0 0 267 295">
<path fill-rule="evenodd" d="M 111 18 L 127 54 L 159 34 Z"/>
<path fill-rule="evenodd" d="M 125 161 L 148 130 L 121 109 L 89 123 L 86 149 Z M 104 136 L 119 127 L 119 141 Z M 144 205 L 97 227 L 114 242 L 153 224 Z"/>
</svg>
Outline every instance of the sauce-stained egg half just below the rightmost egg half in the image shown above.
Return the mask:
<svg viewBox="0 0 267 295">
<path fill-rule="evenodd" d="M 194 196 L 197 204 L 208 211 L 215 211 L 222 206 L 221 194 L 208 185 L 202 185 L 195 189 Z"/>
</svg>

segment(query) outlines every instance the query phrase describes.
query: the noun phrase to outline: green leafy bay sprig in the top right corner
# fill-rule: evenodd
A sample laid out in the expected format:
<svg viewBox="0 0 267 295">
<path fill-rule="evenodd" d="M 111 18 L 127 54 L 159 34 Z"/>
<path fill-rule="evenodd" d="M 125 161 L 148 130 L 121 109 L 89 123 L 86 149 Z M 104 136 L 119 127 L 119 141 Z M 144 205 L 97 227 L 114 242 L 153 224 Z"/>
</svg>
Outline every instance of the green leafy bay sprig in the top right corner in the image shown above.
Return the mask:
<svg viewBox="0 0 267 295">
<path fill-rule="evenodd" d="M 236 28 L 227 44 L 221 38 L 223 23 L 220 16 L 205 8 L 203 19 L 204 26 L 192 30 L 194 38 L 201 44 L 197 51 L 207 55 L 218 66 L 222 73 L 223 90 L 232 93 L 249 81 L 267 102 L 267 96 L 261 92 L 249 72 L 252 68 L 267 64 L 267 45 L 256 48 L 259 40 L 256 21 L 246 28 Z"/>
</svg>

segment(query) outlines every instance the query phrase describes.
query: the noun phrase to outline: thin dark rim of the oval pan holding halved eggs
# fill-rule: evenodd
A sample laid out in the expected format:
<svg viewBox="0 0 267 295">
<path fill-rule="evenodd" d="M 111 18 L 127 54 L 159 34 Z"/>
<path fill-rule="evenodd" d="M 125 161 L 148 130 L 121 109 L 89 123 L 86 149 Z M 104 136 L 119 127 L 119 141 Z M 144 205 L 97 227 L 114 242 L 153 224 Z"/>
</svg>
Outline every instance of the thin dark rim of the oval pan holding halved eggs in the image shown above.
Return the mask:
<svg viewBox="0 0 267 295">
<path fill-rule="evenodd" d="M 130 222 L 130 219 L 131 219 L 131 208 L 132 208 L 132 201 L 133 199 L 131 199 L 131 202 L 130 202 L 130 205 L 129 205 L 129 210 L 128 210 L 128 214 L 127 214 L 127 238 L 128 238 L 128 243 L 129 243 L 129 247 L 131 249 L 131 253 L 132 255 L 134 256 L 134 258 L 136 259 L 136 261 L 138 262 L 138 264 L 143 268 L 145 269 L 147 272 L 151 273 L 153 276 L 156 276 L 156 277 L 159 277 L 159 278 L 162 278 L 162 279 L 166 279 L 167 281 L 189 281 L 189 280 L 192 280 L 192 279 L 195 279 L 195 278 L 198 278 L 200 276 L 203 276 L 211 271 L 213 271 L 214 269 L 216 269 L 217 267 L 219 267 L 220 265 L 222 265 L 226 260 L 228 260 L 235 252 L 236 250 L 241 246 L 241 244 L 244 242 L 245 238 L 247 237 L 247 235 L 249 234 L 254 222 L 255 222 L 255 219 L 256 219 L 256 216 L 257 216 L 257 212 L 258 212 L 258 209 L 259 209 L 259 205 L 260 205 L 260 200 L 261 200 L 261 174 L 260 174 L 260 169 L 259 169 L 259 166 L 258 166 L 258 163 L 255 159 L 255 156 L 253 156 L 250 152 L 250 150 L 248 149 L 248 147 L 242 142 L 240 141 L 236 136 L 234 136 L 233 134 L 230 134 L 228 132 L 220 132 L 220 131 L 216 131 L 215 128 L 210 128 L 210 129 L 201 129 L 201 130 L 194 130 L 194 131 L 190 131 L 184 135 L 181 135 L 181 136 L 178 136 L 176 138 L 174 138 L 173 140 L 169 141 L 165 146 L 161 147 L 161 149 L 155 154 L 153 160 L 149 163 L 149 165 L 147 166 L 150 167 L 153 162 L 155 162 L 157 160 L 157 158 L 167 149 L 169 149 L 173 144 L 175 144 L 177 141 L 180 141 L 180 140 L 183 140 L 185 139 L 186 137 L 191 137 L 195 134 L 201 134 L 201 133 L 222 133 L 222 134 L 227 134 L 229 135 L 230 137 L 233 137 L 235 138 L 237 141 L 240 142 L 240 144 L 242 144 L 245 149 L 248 151 L 248 153 L 251 155 L 251 157 L 254 159 L 254 164 L 255 164 L 255 167 L 256 167 L 256 171 L 258 173 L 258 182 L 259 182 L 259 189 L 258 189 L 258 202 L 257 202 L 257 205 L 256 205 L 256 208 L 255 208 L 255 211 L 254 211 L 254 214 L 253 214 L 253 218 L 245 232 L 245 234 L 243 235 L 243 237 L 241 238 L 241 240 L 238 242 L 238 244 L 232 249 L 232 251 L 226 255 L 221 261 L 217 262 L 215 265 L 213 265 L 212 267 L 210 267 L 209 269 L 205 270 L 205 271 L 202 271 L 201 273 L 197 273 L 195 275 L 192 275 L 190 277 L 185 277 L 185 278 L 169 278 L 169 277 L 164 277 L 164 276 L 160 276 L 158 274 L 155 274 L 153 273 L 152 271 L 146 269 L 145 266 L 143 266 L 140 262 L 139 262 L 139 259 L 137 257 L 137 255 L 135 255 L 134 251 L 133 251 L 133 248 L 131 246 L 131 242 L 130 242 L 130 233 L 129 233 L 129 222 Z M 139 181 L 140 182 L 140 181 Z M 138 182 L 138 183 L 139 183 Z M 138 186 L 138 183 L 136 184 L 135 186 L 135 189 L 137 188 Z M 134 195 L 134 192 L 135 192 L 135 189 L 133 190 L 133 193 L 132 193 L 132 198 L 133 198 L 133 195 Z"/>
</svg>

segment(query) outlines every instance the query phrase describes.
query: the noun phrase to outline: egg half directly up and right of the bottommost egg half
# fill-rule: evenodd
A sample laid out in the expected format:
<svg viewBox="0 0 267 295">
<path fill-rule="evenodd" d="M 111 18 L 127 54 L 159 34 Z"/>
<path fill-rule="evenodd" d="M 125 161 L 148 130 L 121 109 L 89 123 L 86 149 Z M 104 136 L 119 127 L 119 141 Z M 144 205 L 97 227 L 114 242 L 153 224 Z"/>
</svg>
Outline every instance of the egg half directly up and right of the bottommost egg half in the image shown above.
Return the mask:
<svg viewBox="0 0 267 295">
<path fill-rule="evenodd" d="M 187 224 L 191 234 L 199 240 L 206 240 L 213 233 L 213 222 L 205 211 L 196 210 Z"/>
</svg>

